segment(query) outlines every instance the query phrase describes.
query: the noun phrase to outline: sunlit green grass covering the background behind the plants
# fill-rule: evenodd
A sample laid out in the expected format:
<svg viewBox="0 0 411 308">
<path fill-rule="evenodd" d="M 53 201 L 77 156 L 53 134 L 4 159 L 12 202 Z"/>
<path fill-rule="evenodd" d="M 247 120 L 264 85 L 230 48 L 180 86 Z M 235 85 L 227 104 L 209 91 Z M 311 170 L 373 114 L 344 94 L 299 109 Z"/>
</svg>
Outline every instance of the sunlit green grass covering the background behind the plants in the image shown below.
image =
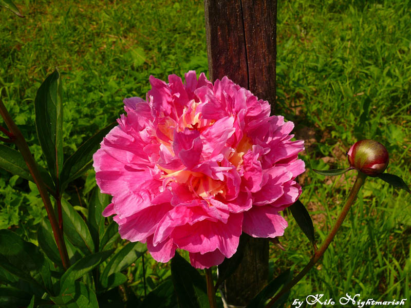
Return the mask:
<svg viewBox="0 0 411 308">
<path fill-rule="evenodd" d="M 0 11 L 0 95 L 37 160 L 33 100 L 54 67 L 63 74 L 67 155 L 119 117 L 123 98 L 144 97 L 151 74 L 163 80 L 190 69 L 207 74 L 201 1 L 16 3 L 26 18 Z M 279 0 L 277 18 L 276 113 L 292 120 L 297 137 L 307 141 L 301 200 L 321 242 L 354 172 L 325 178 L 312 168 L 347 166 L 350 145 L 371 138 L 387 147 L 388 172 L 411 184 L 411 2 Z M 3 170 L 0 176 L 0 225 L 35 241 L 33 228 L 45 216 L 35 187 Z M 73 205 L 86 204 L 94 185 L 90 170 L 71 187 Z M 76 189 L 83 191 L 80 199 Z M 360 293 L 363 299 L 408 298 L 409 307 L 410 213 L 405 191 L 368 178 L 321 263 L 293 288 L 289 303 L 315 293 L 333 299 Z M 272 248 L 273 275 L 290 266 L 298 271 L 311 254 L 286 215 L 289 227 L 280 240 L 287 252 Z M 150 291 L 170 272 L 146 257 Z M 141 266 L 129 275 L 143 296 Z"/>
</svg>

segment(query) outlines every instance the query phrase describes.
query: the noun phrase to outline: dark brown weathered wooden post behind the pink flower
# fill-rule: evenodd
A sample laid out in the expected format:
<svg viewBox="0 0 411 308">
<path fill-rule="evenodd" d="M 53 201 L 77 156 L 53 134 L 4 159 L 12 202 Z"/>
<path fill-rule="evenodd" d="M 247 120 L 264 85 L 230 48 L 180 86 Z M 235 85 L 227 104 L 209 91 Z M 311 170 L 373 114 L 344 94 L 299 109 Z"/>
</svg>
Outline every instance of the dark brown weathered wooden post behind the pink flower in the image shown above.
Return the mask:
<svg viewBox="0 0 411 308">
<path fill-rule="evenodd" d="M 210 80 L 228 76 L 275 105 L 276 0 L 204 0 Z M 251 238 L 226 280 L 228 304 L 246 305 L 267 284 L 268 240 Z"/>
</svg>

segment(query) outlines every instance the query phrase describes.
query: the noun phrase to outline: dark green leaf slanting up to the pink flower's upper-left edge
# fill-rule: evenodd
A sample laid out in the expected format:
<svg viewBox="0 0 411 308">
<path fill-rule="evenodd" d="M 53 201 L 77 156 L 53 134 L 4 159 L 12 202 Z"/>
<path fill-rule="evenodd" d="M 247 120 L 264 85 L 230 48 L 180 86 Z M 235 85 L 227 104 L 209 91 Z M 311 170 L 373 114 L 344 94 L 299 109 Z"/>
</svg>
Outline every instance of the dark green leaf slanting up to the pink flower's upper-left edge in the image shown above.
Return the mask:
<svg viewBox="0 0 411 308">
<path fill-rule="evenodd" d="M 116 125 L 117 122 L 113 122 L 98 131 L 90 139 L 84 142 L 77 149 L 77 151 L 67 159 L 64 163 L 61 174 L 62 190 L 65 189 L 68 183 L 80 177 L 83 172 L 91 167 L 94 153 L 99 149 L 100 143 L 106 134 Z"/>
</svg>

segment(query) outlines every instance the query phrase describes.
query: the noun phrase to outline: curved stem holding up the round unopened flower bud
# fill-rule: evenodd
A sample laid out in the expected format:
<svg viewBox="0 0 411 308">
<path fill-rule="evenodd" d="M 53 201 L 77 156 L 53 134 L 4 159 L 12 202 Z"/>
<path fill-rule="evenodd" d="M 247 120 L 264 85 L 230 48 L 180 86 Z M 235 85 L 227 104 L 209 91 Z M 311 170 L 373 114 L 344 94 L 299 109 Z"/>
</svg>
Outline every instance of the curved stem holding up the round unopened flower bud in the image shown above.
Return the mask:
<svg viewBox="0 0 411 308">
<path fill-rule="evenodd" d="M 303 268 L 303 270 L 300 273 L 298 273 L 298 275 L 295 276 L 293 280 L 291 280 L 287 285 L 285 285 L 282 288 L 282 290 L 273 299 L 271 299 L 271 301 L 267 304 L 266 308 L 270 308 L 276 300 L 278 300 L 281 296 L 283 296 L 285 293 L 290 291 L 290 289 L 298 281 L 300 281 L 308 273 L 311 267 L 313 267 L 314 264 L 318 260 L 320 260 L 320 258 L 324 255 L 324 252 L 327 250 L 331 241 L 334 239 L 335 234 L 337 233 L 345 217 L 347 216 L 348 210 L 350 209 L 351 205 L 354 203 L 354 200 L 356 200 L 358 191 L 360 190 L 361 186 L 364 184 L 366 177 L 367 175 L 358 171 L 356 182 L 351 188 L 350 194 L 348 195 L 347 201 L 344 204 L 343 210 L 341 211 L 340 216 L 338 217 L 337 221 L 335 221 L 335 224 L 332 227 L 331 232 L 328 234 L 327 238 L 325 239 L 324 243 L 320 246 L 320 248 L 317 249 L 313 257 L 311 258 L 310 262 L 308 262 L 308 264 Z"/>
</svg>

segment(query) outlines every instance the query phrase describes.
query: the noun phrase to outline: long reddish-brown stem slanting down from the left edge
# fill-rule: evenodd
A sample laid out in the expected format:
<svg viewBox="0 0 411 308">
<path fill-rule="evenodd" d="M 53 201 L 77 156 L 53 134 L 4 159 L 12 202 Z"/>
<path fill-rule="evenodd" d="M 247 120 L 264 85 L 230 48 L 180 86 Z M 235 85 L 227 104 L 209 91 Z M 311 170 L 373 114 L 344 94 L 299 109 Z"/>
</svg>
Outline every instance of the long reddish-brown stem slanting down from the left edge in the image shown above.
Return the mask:
<svg viewBox="0 0 411 308">
<path fill-rule="evenodd" d="M 18 150 L 22 153 L 24 161 L 26 162 L 27 167 L 29 168 L 30 174 L 34 179 L 37 188 L 39 189 L 40 196 L 43 200 L 44 206 L 47 211 L 48 219 L 50 220 L 51 228 L 53 229 L 53 235 L 55 243 L 59 248 L 60 257 L 63 263 L 64 268 L 70 266 L 66 244 L 64 243 L 63 233 L 59 228 L 57 219 L 55 218 L 53 206 L 51 205 L 50 198 L 47 193 L 46 185 L 44 184 L 43 179 L 40 176 L 39 169 L 31 155 L 30 149 L 26 143 L 26 140 L 23 137 L 20 129 L 15 125 L 14 121 L 11 119 L 10 114 L 8 113 L 6 106 L 4 106 L 2 100 L 0 100 L 0 114 L 2 115 L 4 122 L 9 128 L 10 132 L 15 137 L 14 143 L 16 144 Z"/>
</svg>

